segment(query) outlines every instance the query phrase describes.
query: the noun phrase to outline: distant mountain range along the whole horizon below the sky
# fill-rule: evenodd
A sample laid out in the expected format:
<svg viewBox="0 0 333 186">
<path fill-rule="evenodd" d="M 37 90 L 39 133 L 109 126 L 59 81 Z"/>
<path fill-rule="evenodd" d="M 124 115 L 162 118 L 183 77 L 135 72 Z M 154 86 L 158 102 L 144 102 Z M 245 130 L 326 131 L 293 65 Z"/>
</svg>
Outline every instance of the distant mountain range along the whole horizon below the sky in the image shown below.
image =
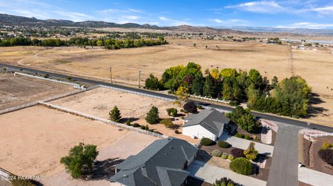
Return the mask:
<svg viewBox="0 0 333 186">
<path fill-rule="evenodd" d="M 250 27 L 250 26 L 219 26 L 219 27 L 203 27 L 203 26 L 155 26 L 150 24 L 115 24 L 105 21 L 79 21 L 74 22 L 63 19 L 36 19 L 35 17 L 22 17 L 16 15 L 0 14 L 0 24 L 12 26 L 74 26 L 74 27 L 90 27 L 90 28 L 149 28 L 157 30 L 173 30 L 179 32 L 206 32 L 210 34 L 219 33 L 244 33 L 244 32 L 273 32 L 273 33 L 289 33 L 296 35 L 333 35 L 333 30 L 329 29 L 307 29 L 307 28 L 272 28 L 272 27 Z"/>
</svg>

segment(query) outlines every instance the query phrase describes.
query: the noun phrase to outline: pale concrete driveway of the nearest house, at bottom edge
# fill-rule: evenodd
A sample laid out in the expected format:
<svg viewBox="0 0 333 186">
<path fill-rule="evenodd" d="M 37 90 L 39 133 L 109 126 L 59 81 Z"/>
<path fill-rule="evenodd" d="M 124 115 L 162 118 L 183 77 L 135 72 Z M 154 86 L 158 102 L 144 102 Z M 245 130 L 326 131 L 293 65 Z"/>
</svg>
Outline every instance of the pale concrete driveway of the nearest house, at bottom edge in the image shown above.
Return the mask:
<svg viewBox="0 0 333 186">
<path fill-rule="evenodd" d="M 259 180 L 257 178 L 252 178 L 250 176 L 244 176 L 241 174 L 237 174 L 228 169 L 223 169 L 220 167 L 216 167 L 213 165 L 208 165 L 205 162 L 201 162 L 198 160 L 194 160 L 194 162 L 189 165 L 187 171 L 190 172 L 190 175 L 200 180 L 205 180 L 207 183 L 213 184 L 215 180 L 219 180 L 220 178 L 227 177 L 234 180 L 237 183 L 246 186 L 265 186 L 266 181 Z"/>
</svg>

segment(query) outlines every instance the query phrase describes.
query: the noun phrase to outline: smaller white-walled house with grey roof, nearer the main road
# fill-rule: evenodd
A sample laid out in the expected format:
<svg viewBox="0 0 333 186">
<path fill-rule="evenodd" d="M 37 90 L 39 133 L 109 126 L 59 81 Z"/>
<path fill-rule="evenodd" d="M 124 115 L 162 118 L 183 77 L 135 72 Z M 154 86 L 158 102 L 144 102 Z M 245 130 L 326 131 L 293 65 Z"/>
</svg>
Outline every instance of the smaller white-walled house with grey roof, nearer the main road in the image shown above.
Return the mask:
<svg viewBox="0 0 333 186">
<path fill-rule="evenodd" d="M 205 109 L 184 118 L 182 134 L 191 138 L 210 138 L 216 140 L 223 133 L 230 119 L 216 109 Z"/>
</svg>

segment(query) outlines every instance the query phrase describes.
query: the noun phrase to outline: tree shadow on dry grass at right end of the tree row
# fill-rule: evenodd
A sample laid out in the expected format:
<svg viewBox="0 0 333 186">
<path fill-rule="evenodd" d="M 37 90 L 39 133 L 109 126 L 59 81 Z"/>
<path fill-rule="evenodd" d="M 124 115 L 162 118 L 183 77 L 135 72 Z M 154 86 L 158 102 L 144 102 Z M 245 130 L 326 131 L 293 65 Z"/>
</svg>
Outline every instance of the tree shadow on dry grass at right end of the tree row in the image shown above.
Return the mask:
<svg viewBox="0 0 333 186">
<path fill-rule="evenodd" d="M 328 111 L 324 107 L 315 106 L 316 104 L 321 104 L 324 102 L 325 101 L 323 101 L 317 93 L 311 93 L 310 98 L 309 98 L 309 105 L 307 107 L 307 115 L 304 116 L 303 118 L 311 118 L 318 114 L 323 114 L 323 112 L 325 112 L 325 111 Z"/>
</svg>

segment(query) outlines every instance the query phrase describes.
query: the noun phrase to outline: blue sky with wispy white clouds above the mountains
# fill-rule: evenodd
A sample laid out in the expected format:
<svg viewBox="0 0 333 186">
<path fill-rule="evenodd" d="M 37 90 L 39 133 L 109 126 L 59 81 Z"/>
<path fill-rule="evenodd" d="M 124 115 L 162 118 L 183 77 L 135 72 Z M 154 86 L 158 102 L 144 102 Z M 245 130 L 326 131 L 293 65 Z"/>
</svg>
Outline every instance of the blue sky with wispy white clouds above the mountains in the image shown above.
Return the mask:
<svg viewBox="0 0 333 186">
<path fill-rule="evenodd" d="M 332 0 L 0 0 L 0 13 L 157 26 L 269 26 L 333 29 Z"/>
</svg>

